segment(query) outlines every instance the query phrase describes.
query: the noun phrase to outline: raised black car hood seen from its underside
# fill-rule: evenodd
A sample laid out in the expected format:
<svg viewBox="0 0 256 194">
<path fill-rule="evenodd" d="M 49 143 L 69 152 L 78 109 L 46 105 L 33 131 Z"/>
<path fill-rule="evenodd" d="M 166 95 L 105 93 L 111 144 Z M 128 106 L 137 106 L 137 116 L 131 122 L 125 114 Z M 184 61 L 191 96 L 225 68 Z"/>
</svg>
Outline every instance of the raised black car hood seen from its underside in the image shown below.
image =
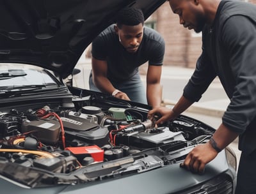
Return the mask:
<svg viewBox="0 0 256 194">
<path fill-rule="evenodd" d="M 0 63 L 35 64 L 66 78 L 125 6 L 145 19 L 165 0 L 0 0 Z"/>
</svg>

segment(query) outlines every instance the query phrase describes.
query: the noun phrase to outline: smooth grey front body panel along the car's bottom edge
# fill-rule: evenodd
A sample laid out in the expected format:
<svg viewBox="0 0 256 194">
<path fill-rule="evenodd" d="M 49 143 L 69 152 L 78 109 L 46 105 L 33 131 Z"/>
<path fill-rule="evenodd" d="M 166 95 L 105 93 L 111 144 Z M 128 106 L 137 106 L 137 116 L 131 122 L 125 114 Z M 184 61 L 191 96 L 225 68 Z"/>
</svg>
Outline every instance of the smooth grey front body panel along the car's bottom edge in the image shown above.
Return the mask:
<svg viewBox="0 0 256 194">
<path fill-rule="evenodd" d="M 222 164 L 222 165 L 220 165 Z M 230 170 L 225 161 L 225 152 L 222 151 L 207 167 L 204 174 L 191 174 L 188 170 L 179 167 L 179 163 L 157 168 L 138 175 L 127 175 L 126 177 L 96 181 L 95 183 L 84 183 L 75 186 L 55 186 L 49 188 L 20 188 L 12 183 L 0 181 L 0 186 L 6 192 L 19 193 L 176 193 L 186 187 L 205 183 L 207 180 L 218 177 L 220 174 L 228 174 L 232 177 L 234 172 Z M 235 178 L 235 177 L 232 177 Z M 9 185 L 9 186 L 8 186 Z"/>
</svg>

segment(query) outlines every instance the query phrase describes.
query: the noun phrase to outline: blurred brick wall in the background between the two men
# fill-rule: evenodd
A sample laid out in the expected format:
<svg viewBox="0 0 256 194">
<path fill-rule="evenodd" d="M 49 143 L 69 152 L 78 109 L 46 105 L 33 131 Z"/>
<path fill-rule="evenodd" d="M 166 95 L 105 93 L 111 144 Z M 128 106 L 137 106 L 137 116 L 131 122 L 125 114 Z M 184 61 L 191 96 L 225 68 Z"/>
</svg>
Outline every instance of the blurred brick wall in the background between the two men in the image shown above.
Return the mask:
<svg viewBox="0 0 256 194">
<path fill-rule="evenodd" d="M 249 0 L 256 4 L 256 0 Z M 194 68 L 200 56 L 202 37 L 179 24 L 179 16 L 174 14 L 168 2 L 164 3 L 152 16 L 156 30 L 166 43 L 164 65 Z"/>
</svg>

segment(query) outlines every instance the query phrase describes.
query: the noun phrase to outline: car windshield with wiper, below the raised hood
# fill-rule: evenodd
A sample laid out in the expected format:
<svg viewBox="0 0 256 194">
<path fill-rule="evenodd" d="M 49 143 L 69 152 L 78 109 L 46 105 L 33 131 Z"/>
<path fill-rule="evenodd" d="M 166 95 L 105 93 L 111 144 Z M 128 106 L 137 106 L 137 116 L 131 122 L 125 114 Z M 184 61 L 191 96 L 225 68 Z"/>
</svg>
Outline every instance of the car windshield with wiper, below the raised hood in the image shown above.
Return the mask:
<svg viewBox="0 0 256 194">
<path fill-rule="evenodd" d="M 56 82 L 42 69 L 26 64 L 1 64 L 0 91 L 42 89 L 56 86 Z"/>
</svg>

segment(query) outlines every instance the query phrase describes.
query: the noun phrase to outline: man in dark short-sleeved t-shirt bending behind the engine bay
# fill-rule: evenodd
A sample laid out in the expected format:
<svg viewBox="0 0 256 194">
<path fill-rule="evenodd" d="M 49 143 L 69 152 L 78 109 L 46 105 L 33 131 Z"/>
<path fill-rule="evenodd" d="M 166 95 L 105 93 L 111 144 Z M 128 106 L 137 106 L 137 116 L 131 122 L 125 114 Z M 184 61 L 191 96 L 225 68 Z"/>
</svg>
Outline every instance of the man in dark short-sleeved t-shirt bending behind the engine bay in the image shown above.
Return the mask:
<svg viewBox="0 0 256 194">
<path fill-rule="evenodd" d="M 92 42 L 92 73 L 89 85 L 93 91 L 116 98 L 158 107 L 161 104 L 161 70 L 164 40 L 159 33 L 143 27 L 140 9 L 125 8 Z M 138 67 L 148 61 L 147 98 Z"/>
</svg>

